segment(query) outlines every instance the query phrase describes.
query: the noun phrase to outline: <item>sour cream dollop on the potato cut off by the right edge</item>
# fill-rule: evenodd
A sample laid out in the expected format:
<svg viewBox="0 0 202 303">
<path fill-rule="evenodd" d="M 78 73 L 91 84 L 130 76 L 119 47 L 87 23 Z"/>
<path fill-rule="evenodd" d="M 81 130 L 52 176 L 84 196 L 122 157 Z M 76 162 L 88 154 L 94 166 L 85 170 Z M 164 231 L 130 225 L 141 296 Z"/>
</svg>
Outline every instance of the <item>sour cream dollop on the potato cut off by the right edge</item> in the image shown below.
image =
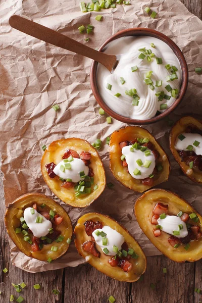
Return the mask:
<svg viewBox="0 0 202 303">
<path fill-rule="evenodd" d="M 194 153 L 196 155 L 202 155 L 202 136 L 200 134 L 182 133 L 180 135 L 184 136 L 185 138 L 183 138 L 183 140 L 177 138 L 175 142 L 175 148 L 177 150 L 187 151 L 187 146 L 192 145 L 192 150 L 194 151 Z M 193 145 L 195 141 L 199 142 L 199 144 L 196 143 L 196 145 L 198 144 L 198 146 Z"/>
</svg>

